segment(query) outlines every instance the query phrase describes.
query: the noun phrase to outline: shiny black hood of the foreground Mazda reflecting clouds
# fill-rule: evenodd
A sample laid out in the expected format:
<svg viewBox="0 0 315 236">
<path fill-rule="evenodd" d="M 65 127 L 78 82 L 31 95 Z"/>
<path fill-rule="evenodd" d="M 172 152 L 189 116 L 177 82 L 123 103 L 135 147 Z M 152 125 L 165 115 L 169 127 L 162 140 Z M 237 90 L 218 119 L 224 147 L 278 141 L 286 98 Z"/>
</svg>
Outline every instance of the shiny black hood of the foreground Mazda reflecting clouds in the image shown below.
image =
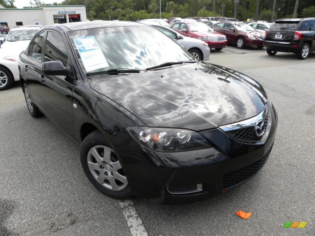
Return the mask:
<svg viewBox="0 0 315 236">
<path fill-rule="evenodd" d="M 90 87 L 147 126 L 196 131 L 253 117 L 266 103 L 258 82 L 203 62 L 139 74 L 93 76 Z"/>
</svg>

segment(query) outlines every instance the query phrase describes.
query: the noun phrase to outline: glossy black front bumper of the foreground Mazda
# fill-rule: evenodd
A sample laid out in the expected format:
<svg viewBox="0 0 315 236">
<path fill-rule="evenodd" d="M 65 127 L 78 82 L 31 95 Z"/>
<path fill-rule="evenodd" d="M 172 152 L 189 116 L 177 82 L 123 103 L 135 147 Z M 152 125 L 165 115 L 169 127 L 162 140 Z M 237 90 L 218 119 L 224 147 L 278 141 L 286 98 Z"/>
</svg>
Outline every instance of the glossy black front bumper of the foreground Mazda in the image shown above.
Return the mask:
<svg viewBox="0 0 315 236">
<path fill-rule="evenodd" d="M 221 129 L 199 132 L 212 148 L 153 152 L 134 140 L 117 149 L 133 194 L 159 202 L 204 199 L 253 177 L 266 163 L 276 135 L 278 115 L 271 108 L 270 132 L 264 142 L 239 142 Z"/>
</svg>

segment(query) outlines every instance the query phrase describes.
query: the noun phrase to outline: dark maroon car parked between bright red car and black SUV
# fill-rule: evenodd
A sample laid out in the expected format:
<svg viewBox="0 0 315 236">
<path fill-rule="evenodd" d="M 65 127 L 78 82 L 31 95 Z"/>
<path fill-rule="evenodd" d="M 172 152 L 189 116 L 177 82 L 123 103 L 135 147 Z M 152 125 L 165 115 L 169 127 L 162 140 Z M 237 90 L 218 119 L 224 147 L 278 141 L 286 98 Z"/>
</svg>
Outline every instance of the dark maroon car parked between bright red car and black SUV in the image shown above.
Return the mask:
<svg viewBox="0 0 315 236">
<path fill-rule="evenodd" d="M 238 48 L 244 47 L 264 47 L 264 34 L 256 31 L 250 25 L 223 21 L 211 26 L 216 32 L 224 34 L 228 43 L 236 44 Z"/>
</svg>

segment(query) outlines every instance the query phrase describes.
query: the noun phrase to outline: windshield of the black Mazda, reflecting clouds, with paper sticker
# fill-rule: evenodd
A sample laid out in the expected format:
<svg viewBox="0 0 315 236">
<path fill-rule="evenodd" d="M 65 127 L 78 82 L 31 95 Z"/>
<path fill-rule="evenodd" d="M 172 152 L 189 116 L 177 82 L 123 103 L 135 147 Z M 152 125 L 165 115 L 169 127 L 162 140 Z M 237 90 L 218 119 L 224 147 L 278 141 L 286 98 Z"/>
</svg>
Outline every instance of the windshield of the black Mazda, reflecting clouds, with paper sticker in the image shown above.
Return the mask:
<svg viewBox="0 0 315 236">
<path fill-rule="evenodd" d="M 78 30 L 69 32 L 69 37 L 85 73 L 116 68 L 145 70 L 165 62 L 195 60 L 150 26 Z"/>
</svg>

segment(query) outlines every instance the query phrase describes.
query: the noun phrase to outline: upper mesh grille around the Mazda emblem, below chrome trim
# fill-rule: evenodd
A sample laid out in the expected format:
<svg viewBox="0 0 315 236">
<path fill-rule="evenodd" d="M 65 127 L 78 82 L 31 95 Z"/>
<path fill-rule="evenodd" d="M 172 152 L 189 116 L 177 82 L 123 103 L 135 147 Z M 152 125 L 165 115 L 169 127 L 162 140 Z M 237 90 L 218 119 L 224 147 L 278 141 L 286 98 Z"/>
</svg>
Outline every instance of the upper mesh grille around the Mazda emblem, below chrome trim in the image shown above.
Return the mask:
<svg viewBox="0 0 315 236">
<path fill-rule="evenodd" d="M 266 117 L 264 119 L 265 123 L 265 130 L 267 130 L 268 126 L 268 113 L 266 114 Z M 257 137 L 256 131 L 255 131 L 255 126 L 249 126 L 246 128 L 241 128 L 241 129 L 235 129 L 231 131 L 227 131 L 227 134 L 231 135 L 234 138 L 237 138 L 241 141 L 246 141 L 246 142 L 259 142 L 264 136 Z"/>
</svg>

